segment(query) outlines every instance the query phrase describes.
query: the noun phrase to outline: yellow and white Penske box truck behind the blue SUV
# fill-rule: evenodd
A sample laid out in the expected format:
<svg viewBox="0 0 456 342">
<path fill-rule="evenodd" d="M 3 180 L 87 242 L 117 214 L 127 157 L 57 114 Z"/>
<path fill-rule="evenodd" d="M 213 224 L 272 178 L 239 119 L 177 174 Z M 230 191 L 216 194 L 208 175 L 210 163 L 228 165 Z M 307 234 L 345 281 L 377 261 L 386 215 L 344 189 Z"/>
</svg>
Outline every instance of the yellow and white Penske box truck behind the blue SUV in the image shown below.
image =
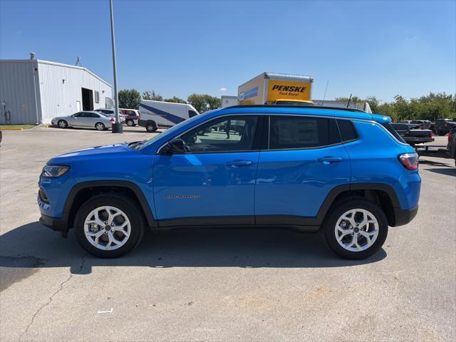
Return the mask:
<svg viewBox="0 0 456 342">
<path fill-rule="evenodd" d="M 239 105 L 311 104 L 314 78 L 285 73 L 261 73 L 239 86 Z"/>
</svg>

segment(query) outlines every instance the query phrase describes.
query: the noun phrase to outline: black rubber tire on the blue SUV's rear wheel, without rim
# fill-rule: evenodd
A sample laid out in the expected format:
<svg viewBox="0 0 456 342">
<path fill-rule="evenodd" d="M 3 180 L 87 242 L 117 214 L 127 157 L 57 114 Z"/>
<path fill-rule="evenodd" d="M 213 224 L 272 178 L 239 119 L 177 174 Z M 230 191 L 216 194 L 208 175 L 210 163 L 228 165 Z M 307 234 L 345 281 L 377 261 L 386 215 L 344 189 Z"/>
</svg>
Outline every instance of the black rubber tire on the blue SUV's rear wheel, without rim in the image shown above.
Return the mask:
<svg viewBox="0 0 456 342">
<path fill-rule="evenodd" d="M 378 222 L 378 236 L 375 242 L 372 244 L 371 247 L 364 249 L 360 252 L 351 252 L 347 249 L 341 247 L 341 245 L 337 242 L 335 229 L 336 223 L 338 219 L 345 213 L 351 209 L 366 209 L 368 212 L 371 212 L 375 219 Z M 382 209 L 378 207 L 377 204 L 368 201 L 367 199 L 363 198 L 353 198 L 347 199 L 344 202 L 337 204 L 335 207 L 330 209 L 330 212 L 326 215 L 326 219 L 323 222 L 323 226 L 321 227 L 321 233 L 325 239 L 326 244 L 328 247 L 336 253 L 339 257 L 343 257 L 345 259 L 365 259 L 367 257 L 371 257 L 371 255 L 378 252 L 383 244 L 385 243 L 385 239 L 388 236 L 388 219 L 386 219 L 385 214 L 383 213 Z"/>
</svg>

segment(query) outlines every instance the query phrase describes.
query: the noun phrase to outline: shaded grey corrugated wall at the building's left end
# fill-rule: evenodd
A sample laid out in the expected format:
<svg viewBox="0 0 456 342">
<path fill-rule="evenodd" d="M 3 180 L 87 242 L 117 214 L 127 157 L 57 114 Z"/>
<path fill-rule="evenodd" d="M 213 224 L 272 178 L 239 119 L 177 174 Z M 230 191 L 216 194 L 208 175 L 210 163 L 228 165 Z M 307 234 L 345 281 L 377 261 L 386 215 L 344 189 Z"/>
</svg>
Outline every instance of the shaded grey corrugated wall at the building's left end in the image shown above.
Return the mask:
<svg viewBox="0 0 456 342">
<path fill-rule="evenodd" d="M 39 87 L 35 68 L 37 61 L 0 61 L 0 124 L 7 123 L 6 111 L 11 113 L 11 124 L 35 124 L 41 118 L 41 108 L 36 102 Z"/>
</svg>

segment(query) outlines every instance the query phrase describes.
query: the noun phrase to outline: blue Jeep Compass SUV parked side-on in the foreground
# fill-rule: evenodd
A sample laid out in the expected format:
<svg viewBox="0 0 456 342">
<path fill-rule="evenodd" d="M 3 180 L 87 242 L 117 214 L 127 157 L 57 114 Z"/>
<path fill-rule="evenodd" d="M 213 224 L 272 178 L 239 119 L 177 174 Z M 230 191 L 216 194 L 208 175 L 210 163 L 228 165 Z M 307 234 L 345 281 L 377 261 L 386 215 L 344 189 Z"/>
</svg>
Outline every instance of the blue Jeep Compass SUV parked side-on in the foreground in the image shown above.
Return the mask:
<svg viewBox="0 0 456 342">
<path fill-rule="evenodd" d="M 38 204 L 43 224 L 73 228 L 98 257 L 129 252 L 147 228 L 273 226 L 321 231 L 333 252 L 362 259 L 415 217 L 420 182 L 418 155 L 388 117 L 235 106 L 55 157 Z"/>
</svg>

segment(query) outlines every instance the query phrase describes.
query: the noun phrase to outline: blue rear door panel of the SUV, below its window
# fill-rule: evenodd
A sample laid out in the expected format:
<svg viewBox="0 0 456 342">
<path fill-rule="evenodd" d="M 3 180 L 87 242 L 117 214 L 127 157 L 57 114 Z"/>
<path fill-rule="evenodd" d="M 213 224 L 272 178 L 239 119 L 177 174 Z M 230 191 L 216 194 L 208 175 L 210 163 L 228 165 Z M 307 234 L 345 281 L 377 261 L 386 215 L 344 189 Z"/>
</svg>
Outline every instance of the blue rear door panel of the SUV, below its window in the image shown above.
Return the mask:
<svg viewBox="0 0 456 342">
<path fill-rule="evenodd" d="M 318 161 L 340 157 L 338 162 Z M 349 184 L 350 160 L 342 144 L 303 150 L 261 151 L 255 214 L 315 217 L 329 192 Z"/>
</svg>

